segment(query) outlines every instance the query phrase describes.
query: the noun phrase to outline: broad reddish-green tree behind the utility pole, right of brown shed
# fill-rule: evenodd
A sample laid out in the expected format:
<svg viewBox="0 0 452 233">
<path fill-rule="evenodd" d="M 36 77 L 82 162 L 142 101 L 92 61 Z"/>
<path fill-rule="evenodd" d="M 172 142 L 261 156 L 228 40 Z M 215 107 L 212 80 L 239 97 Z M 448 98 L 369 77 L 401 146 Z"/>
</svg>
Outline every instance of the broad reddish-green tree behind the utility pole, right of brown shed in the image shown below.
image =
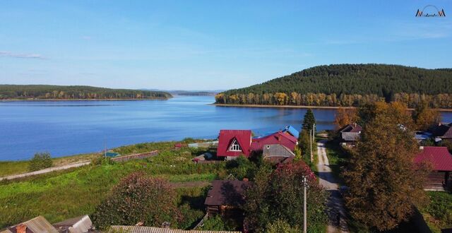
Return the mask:
<svg viewBox="0 0 452 233">
<path fill-rule="evenodd" d="M 315 174 L 303 162 L 279 165 L 277 169 L 259 169 L 254 184 L 246 191 L 245 226 L 254 232 L 265 232 L 266 227 L 284 219 L 288 225 L 303 227 L 303 177 L 307 177 L 308 229 L 326 223 L 328 194 L 319 185 Z M 272 226 L 278 228 L 278 226 Z"/>
</svg>

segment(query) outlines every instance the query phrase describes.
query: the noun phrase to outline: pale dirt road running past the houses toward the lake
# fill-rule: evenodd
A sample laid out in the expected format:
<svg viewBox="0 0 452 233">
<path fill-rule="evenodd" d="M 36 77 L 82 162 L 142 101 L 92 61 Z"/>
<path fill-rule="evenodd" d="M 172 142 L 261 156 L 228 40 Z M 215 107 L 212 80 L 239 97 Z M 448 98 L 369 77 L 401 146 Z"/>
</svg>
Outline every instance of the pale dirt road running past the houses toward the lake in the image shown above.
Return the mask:
<svg viewBox="0 0 452 233">
<path fill-rule="evenodd" d="M 326 229 L 327 232 L 348 232 L 347 221 L 343 205 L 343 198 L 339 192 L 339 182 L 335 179 L 333 172 L 331 172 L 330 163 L 326 156 L 325 148 L 326 140 L 319 141 L 317 143 L 317 155 L 319 156 L 319 164 L 317 169 L 319 170 L 319 181 L 322 186 L 330 192 L 330 200 L 328 201 L 328 207 L 331 208 L 329 213 L 330 221 Z M 340 214 L 338 221 L 338 213 Z"/>
</svg>

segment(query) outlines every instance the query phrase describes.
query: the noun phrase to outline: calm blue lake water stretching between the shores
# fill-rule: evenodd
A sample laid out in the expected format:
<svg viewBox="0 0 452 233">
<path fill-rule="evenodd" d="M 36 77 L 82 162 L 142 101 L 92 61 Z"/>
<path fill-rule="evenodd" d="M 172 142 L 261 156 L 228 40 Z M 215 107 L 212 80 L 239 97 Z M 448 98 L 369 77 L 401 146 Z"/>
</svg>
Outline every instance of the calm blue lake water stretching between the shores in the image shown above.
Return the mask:
<svg viewBox="0 0 452 233">
<path fill-rule="evenodd" d="M 216 138 L 220 129 L 263 134 L 291 124 L 306 109 L 215 107 L 213 97 L 150 101 L 0 102 L 0 160 L 24 160 L 47 151 L 53 157 L 120 145 Z M 314 109 L 319 130 L 333 129 L 335 110 Z M 452 121 L 452 113 L 443 114 Z"/>
</svg>

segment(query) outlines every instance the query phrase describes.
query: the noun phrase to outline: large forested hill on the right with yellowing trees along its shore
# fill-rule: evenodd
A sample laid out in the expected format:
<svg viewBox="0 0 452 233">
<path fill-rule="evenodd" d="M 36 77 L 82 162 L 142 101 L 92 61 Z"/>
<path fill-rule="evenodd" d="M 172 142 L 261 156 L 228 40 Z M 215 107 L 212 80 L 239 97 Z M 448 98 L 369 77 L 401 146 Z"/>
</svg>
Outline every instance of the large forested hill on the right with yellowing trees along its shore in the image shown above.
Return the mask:
<svg viewBox="0 0 452 233">
<path fill-rule="evenodd" d="M 217 104 L 349 107 L 376 100 L 452 108 L 452 69 L 386 64 L 316 66 L 215 96 Z"/>
</svg>

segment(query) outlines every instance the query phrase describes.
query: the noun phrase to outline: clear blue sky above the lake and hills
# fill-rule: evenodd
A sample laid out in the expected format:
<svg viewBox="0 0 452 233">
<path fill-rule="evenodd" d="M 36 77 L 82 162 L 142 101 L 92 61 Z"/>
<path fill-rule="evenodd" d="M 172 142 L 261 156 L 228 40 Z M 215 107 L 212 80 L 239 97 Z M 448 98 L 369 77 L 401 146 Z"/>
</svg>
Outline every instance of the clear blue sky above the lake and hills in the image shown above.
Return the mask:
<svg viewBox="0 0 452 233">
<path fill-rule="evenodd" d="M 416 18 L 417 8 L 444 18 Z M 241 88 L 311 66 L 452 67 L 452 1 L 0 2 L 0 83 Z"/>
</svg>

